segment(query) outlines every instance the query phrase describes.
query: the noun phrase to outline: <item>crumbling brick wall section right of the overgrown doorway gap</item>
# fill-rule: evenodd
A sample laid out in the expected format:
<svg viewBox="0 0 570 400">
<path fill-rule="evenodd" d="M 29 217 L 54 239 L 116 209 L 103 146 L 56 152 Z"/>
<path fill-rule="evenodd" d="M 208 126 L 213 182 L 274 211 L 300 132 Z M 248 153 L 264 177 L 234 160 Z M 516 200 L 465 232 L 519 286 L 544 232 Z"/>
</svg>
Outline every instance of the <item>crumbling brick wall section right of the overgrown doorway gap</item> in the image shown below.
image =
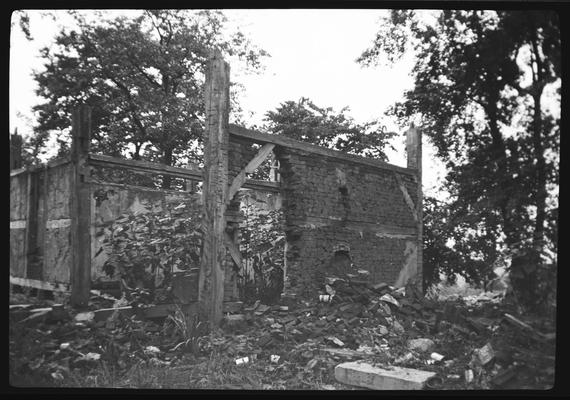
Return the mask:
<svg viewBox="0 0 570 400">
<path fill-rule="evenodd" d="M 372 282 L 397 286 L 421 277 L 417 223 L 396 172 L 283 147 L 276 153 L 294 292 L 314 296 L 326 276 L 358 270 L 369 271 Z M 415 176 L 400 177 L 415 203 Z M 339 255 L 350 262 L 339 263 Z"/>
</svg>

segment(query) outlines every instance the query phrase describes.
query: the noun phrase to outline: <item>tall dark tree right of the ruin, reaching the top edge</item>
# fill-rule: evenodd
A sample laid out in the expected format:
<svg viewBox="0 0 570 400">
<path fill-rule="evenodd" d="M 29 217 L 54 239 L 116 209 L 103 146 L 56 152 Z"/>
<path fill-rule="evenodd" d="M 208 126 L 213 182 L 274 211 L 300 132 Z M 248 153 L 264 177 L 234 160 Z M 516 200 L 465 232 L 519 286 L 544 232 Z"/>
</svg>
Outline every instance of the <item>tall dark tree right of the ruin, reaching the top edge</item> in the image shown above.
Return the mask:
<svg viewBox="0 0 570 400">
<path fill-rule="evenodd" d="M 482 251 L 487 264 L 500 262 L 501 254 L 524 253 L 532 256 L 536 271 L 539 255 L 556 247 L 556 239 L 546 237 L 545 229 L 556 225 L 552 210 L 557 201 L 548 188 L 558 183 L 559 121 L 545 113 L 541 101 L 544 89 L 560 78 L 558 16 L 530 11 L 393 11 L 358 61 L 370 65 L 388 52 L 393 62 L 410 49 L 417 55 L 415 87 L 391 113 L 402 125 L 419 118 L 446 162 L 446 189 L 451 194 L 444 206 L 451 221 L 447 228 L 477 238 L 464 249 L 455 247 L 457 243 L 453 249 L 467 257 Z M 438 257 L 448 257 L 438 248 Z M 536 275 L 532 268 L 523 271 L 515 264 L 514 275 L 521 273 L 515 285 L 525 287 L 525 298 L 532 298 Z M 454 272 L 472 276 L 472 268 L 476 267 L 462 263 Z"/>
</svg>

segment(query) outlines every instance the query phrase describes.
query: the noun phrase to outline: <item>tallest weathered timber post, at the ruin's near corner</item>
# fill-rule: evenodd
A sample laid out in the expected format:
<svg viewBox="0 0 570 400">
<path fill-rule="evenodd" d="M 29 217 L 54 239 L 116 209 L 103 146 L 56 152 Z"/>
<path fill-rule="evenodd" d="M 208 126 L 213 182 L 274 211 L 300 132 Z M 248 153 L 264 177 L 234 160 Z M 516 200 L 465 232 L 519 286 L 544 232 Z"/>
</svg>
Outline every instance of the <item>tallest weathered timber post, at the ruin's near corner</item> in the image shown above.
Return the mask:
<svg viewBox="0 0 570 400">
<path fill-rule="evenodd" d="M 206 71 L 204 131 L 203 244 L 199 277 L 199 313 L 210 329 L 222 319 L 226 248 L 226 196 L 228 191 L 228 145 L 230 66 L 216 50 Z"/>
</svg>

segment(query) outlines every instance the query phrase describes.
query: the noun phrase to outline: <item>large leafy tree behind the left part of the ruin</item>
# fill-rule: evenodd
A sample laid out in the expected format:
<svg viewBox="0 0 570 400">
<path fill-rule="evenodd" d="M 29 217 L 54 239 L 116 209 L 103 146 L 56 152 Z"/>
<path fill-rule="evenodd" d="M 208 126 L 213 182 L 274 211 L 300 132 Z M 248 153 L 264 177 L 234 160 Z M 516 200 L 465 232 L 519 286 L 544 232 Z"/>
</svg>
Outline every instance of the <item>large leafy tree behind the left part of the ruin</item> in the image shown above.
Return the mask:
<svg viewBox="0 0 570 400">
<path fill-rule="evenodd" d="M 204 68 L 219 48 L 257 69 L 267 53 L 241 32 L 223 34 L 218 11 L 145 10 L 139 16 L 62 30 L 55 49 L 44 48 L 45 70 L 35 74 L 47 102 L 38 113 L 36 137 L 70 126 L 78 104 L 93 108 L 94 151 L 181 165 L 199 162 L 204 120 Z M 235 99 L 234 99 L 235 100 Z M 60 142 L 66 152 L 66 141 Z M 168 180 L 165 180 L 168 186 Z"/>
</svg>

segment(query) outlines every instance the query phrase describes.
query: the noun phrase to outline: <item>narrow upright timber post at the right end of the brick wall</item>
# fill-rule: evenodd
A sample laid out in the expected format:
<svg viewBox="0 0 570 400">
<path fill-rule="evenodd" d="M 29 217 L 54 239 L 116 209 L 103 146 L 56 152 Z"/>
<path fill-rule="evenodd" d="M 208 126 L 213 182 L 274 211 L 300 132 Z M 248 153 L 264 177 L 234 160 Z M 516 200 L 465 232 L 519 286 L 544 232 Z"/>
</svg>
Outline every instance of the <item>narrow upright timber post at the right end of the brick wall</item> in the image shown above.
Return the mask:
<svg viewBox="0 0 570 400">
<path fill-rule="evenodd" d="M 406 132 L 406 154 L 408 168 L 417 170 L 418 191 L 416 215 L 418 216 L 418 284 L 423 291 L 423 191 L 422 191 L 422 133 L 412 124 Z"/>
</svg>

